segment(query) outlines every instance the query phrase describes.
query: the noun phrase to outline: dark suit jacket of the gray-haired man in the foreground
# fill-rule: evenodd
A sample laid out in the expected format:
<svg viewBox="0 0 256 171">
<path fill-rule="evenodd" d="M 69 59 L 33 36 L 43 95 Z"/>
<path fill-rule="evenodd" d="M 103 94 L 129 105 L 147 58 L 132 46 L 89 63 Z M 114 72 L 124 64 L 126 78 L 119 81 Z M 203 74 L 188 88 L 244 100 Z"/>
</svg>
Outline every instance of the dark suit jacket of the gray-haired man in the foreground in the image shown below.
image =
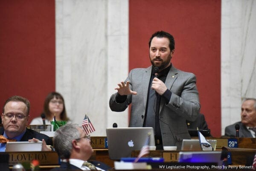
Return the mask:
<svg viewBox="0 0 256 171">
<path fill-rule="evenodd" d="M 111 167 L 109 167 L 108 165 L 102 163 L 102 162 L 99 162 L 99 161 L 89 161 L 90 163 L 92 163 L 93 165 L 95 165 L 96 167 L 98 168 L 101 168 L 105 171 L 111 169 Z M 71 165 L 69 162 L 61 162 L 61 165 L 59 168 L 52 168 L 51 171 L 81 171 L 80 168 L 74 166 L 74 165 Z"/>
</svg>

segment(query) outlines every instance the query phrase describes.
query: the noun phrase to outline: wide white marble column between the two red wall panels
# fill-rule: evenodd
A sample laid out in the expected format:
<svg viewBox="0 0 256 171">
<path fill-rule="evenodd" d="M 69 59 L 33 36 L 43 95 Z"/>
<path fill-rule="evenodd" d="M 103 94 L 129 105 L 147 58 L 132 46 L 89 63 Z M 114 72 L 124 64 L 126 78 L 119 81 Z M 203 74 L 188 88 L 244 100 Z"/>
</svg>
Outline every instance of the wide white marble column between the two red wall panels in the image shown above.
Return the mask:
<svg viewBox="0 0 256 171">
<path fill-rule="evenodd" d="M 55 17 L 56 91 L 68 116 L 81 125 L 87 113 L 92 136 L 127 127 L 128 112 L 111 112 L 108 100 L 128 75 L 128 0 L 55 0 Z"/>
</svg>

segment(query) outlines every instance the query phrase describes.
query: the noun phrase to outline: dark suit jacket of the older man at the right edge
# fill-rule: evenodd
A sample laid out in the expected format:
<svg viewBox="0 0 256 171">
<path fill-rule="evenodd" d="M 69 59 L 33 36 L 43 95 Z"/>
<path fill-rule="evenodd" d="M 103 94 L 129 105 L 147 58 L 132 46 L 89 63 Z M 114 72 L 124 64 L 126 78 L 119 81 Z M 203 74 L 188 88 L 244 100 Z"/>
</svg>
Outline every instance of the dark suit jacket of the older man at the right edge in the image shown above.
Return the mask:
<svg viewBox="0 0 256 171">
<path fill-rule="evenodd" d="M 250 131 L 246 128 L 242 122 L 236 122 L 233 125 L 229 125 L 225 128 L 225 136 L 236 137 L 235 125 L 239 124 L 239 137 L 253 137 Z"/>
</svg>

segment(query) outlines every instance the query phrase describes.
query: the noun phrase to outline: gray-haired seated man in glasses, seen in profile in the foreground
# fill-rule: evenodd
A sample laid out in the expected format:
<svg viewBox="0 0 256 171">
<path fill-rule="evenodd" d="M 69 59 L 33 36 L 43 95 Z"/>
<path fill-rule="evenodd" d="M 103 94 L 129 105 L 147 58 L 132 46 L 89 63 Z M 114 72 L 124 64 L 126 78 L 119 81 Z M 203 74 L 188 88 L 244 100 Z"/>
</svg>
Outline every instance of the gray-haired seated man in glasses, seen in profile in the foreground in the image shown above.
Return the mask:
<svg viewBox="0 0 256 171">
<path fill-rule="evenodd" d="M 93 154 L 90 136 L 87 136 L 77 124 L 67 124 L 58 128 L 53 137 L 53 146 L 62 162 L 59 168 L 53 168 L 51 171 L 67 169 L 107 171 L 111 169 L 102 162 L 87 162 Z"/>
</svg>

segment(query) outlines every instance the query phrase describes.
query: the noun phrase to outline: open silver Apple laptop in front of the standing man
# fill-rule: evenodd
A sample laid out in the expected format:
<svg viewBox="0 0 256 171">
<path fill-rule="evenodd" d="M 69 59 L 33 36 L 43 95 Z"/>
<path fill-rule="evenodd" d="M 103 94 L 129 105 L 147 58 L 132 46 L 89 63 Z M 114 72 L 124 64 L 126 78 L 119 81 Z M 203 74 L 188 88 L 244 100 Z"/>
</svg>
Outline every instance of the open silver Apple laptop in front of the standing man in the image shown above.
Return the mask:
<svg viewBox="0 0 256 171">
<path fill-rule="evenodd" d="M 107 128 L 108 154 L 113 160 L 131 157 L 131 151 L 140 150 L 150 136 L 149 146 L 155 146 L 154 130 L 151 127 Z"/>
</svg>

